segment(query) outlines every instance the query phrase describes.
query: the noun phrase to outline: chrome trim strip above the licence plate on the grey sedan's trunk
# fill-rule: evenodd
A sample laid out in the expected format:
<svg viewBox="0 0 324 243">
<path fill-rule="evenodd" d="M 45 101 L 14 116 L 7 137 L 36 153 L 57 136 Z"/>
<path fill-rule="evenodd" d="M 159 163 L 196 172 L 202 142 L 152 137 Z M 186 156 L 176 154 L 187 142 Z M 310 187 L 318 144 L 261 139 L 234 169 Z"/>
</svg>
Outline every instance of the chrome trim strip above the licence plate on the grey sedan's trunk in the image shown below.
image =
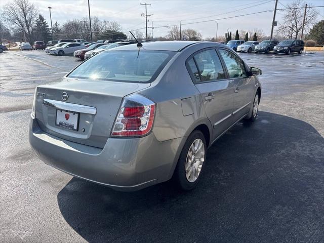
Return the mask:
<svg viewBox="0 0 324 243">
<path fill-rule="evenodd" d="M 75 111 L 79 113 L 86 113 L 86 114 L 97 114 L 97 109 L 92 106 L 86 106 L 86 105 L 78 105 L 78 104 L 72 104 L 72 103 L 66 103 L 58 100 L 49 100 L 44 99 L 43 105 L 54 107 L 61 110 L 67 110 L 67 111 Z"/>
</svg>

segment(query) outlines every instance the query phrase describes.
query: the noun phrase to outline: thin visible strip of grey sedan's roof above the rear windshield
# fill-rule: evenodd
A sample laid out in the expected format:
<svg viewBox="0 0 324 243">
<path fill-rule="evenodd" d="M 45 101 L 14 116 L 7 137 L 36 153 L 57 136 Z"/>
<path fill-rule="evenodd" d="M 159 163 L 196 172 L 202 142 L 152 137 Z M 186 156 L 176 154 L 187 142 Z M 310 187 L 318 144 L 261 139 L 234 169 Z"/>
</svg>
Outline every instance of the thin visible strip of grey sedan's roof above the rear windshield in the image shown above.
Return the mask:
<svg viewBox="0 0 324 243">
<path fill-rule="evenodd" d="M 184 48 L 200 42 L 191 41 L 166 41 L 166 42 L 145 42 L 142 43 L 143 50 L 160 50 L 160 51 L 174 51 L 178 52 Z M 117 47 L 114 50 L 138 50 L 137 44 L 130 44 Z"/>
</svg>

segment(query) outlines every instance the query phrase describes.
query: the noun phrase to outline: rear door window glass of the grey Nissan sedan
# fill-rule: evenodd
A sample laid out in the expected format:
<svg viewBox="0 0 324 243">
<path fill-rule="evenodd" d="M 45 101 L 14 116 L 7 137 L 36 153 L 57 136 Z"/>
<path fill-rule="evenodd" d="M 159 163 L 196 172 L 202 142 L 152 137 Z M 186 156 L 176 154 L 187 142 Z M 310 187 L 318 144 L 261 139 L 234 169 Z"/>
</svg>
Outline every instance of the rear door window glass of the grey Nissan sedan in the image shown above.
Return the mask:
<svg viewBox="0 0 324 243">
<path fill-rule="evenodd" d="M 207 50 L 194 55 L 200 82 L 213 81 L 225 78 L 224 70 L 216 51 Z"/>
</svg>

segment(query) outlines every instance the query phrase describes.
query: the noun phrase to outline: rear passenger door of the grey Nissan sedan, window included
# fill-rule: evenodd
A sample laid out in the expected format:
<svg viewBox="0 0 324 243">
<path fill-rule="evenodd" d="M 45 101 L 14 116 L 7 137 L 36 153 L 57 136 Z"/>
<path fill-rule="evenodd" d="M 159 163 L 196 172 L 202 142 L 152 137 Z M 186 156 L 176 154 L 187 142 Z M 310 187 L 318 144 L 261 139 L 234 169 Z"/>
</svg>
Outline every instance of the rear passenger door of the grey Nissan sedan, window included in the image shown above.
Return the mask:
<svg viewBox="0 0 324 243">
<path fill-rule="evenodd" d="M 232 124 L 234 88 L 214 48 L 196 52 L 186 65 L 203 99 L 214 140 Z"/>
</svg>

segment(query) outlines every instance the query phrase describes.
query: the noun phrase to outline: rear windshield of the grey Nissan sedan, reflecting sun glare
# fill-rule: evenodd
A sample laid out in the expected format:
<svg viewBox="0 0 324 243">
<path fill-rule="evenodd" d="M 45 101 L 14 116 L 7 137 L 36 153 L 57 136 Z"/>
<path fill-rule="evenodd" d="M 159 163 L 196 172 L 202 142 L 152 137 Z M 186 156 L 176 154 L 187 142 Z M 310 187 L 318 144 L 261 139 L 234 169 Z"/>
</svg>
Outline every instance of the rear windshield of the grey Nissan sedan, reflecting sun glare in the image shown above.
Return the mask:
<svg viewBox="0 0 324 243">
<path fill-rule="evenodd" d="M 68 77 L 150 83 L 175 53 L 146 50 L 139 53 L 136 50 L 105 51 L 79 65 L 68 74 Z"/>
</svg>

